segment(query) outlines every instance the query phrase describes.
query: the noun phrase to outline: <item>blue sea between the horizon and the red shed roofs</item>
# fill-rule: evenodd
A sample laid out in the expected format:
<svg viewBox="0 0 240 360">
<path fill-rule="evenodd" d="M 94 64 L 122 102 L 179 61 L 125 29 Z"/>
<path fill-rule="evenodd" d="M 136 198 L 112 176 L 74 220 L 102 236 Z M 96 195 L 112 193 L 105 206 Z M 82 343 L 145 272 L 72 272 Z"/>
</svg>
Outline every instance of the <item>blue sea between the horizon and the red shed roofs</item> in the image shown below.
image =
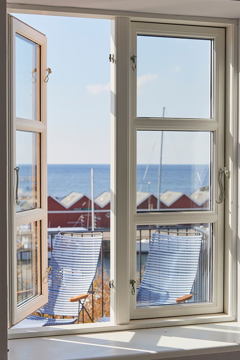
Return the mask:
<svg viewBox="0 0 240 360">
<path fill-rule="evenodd" d="M 21 169 L 21 166 L 19 166 Z M 47 192 L 63 198 L 72 191 L 91 196 L 91 168 L 94 169 L 94 198 L 110 192 L 110 165 L 48 165 Z M 20 175 L 20 172 L 19 172 Z M 24 175 L 24 174 L 23 174 Z M 137 165 L 137 191 L 157 196 L 159 166 Z M 150 183 L 150 184 L 149 184 Z M 19 184 L 21 186 L 21 184 Z M 190 195 L 209 185 L 209 165 L 162 165 L 160 193 L 166 190 Z"/>
</svg>

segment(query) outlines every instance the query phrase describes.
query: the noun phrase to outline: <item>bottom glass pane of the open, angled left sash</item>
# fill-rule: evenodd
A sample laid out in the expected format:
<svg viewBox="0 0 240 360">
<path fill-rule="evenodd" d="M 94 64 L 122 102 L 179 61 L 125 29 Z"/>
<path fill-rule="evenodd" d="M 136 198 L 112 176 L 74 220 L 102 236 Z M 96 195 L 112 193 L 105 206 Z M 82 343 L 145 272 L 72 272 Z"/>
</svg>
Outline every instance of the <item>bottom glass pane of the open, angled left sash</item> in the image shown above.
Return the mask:
<svg viewBox="0 0 240 360">
<path fill-rule="evenodd" d="M 17 226 L 17 302 L 23 305 L 36 296 L 40 289 L 37 283 L 37 248 L 40 242 L 40 221 Z"/>
</svg>

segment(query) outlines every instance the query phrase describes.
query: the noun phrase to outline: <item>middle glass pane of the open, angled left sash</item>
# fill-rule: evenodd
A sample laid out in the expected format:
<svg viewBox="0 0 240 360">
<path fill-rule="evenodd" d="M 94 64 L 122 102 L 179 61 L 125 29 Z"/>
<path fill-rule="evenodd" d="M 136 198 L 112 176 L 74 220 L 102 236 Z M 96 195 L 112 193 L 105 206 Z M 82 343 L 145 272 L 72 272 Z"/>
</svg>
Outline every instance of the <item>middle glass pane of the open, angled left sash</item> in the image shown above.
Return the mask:
<svg viewBox="0 0 240 360">
<path fill-rule="evenodd" d="M 40 134 L 16 131 L 16 166 L 19 167 L 17 212 L 40 207 Z"/>
</svg>

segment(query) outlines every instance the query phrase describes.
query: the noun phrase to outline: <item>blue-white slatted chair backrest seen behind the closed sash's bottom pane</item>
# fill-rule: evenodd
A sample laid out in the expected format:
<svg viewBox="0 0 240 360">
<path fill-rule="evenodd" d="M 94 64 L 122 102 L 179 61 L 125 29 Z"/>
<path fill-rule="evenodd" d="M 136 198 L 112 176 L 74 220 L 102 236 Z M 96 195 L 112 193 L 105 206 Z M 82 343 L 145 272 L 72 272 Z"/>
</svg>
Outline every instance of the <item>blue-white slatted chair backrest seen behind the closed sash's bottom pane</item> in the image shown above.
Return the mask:
<svg viewBox="0 0 240 360">
<path fill-rule="evenodd" d="M 137 291 L 137 307 L 176 304 L 176 298 L 191 293 L 201 241 L 201 233 L 152 234 L 146 270 Z"/>
</svg>

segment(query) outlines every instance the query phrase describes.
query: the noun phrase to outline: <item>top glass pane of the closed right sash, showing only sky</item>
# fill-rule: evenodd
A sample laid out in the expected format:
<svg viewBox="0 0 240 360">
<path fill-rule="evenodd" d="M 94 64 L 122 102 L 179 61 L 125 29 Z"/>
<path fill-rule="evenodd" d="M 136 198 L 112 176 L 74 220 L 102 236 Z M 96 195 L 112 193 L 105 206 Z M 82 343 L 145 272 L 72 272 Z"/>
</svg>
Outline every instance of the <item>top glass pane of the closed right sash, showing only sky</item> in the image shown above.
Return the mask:
<svg viewBox="0 0 240 360">
<path fill-rule="evenodd" d="M 212 118 L 213 40 L 137 36 L 137 116 Z"/>
</svg>

